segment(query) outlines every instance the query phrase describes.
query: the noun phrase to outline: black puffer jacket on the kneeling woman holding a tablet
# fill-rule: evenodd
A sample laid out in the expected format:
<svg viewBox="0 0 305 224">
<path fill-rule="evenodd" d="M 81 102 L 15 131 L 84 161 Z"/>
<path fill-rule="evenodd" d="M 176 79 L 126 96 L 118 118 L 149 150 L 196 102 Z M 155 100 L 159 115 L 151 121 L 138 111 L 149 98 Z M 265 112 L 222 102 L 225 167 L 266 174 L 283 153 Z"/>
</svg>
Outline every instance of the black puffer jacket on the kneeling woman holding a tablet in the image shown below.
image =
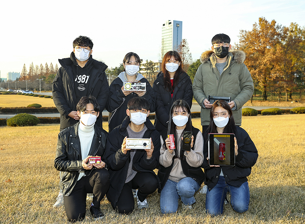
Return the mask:
<svg viewBox="0 0 305 224">
<path fill-rule="evenodd" d="M 240 187 L 244 182 L 248 181 L 247 176 L 251 174 L 251 167 L 257 161 L 257 149 L 249 137 L 248 133 L 241 127 L 236 126 L 235 137 L 238 145 L 238 155 L 235 156 L 234 167 L 210 167 L 208 160 L 204 159 L 202 167 L 206 175 L 204 183 L 209 189 L 212 189 L 218 182 L 219 174 L 222 172 L 224 178 L 229 185 Z M 203 134 L 203 154 L 208 157 L 208 133 Z"/>
</svg>

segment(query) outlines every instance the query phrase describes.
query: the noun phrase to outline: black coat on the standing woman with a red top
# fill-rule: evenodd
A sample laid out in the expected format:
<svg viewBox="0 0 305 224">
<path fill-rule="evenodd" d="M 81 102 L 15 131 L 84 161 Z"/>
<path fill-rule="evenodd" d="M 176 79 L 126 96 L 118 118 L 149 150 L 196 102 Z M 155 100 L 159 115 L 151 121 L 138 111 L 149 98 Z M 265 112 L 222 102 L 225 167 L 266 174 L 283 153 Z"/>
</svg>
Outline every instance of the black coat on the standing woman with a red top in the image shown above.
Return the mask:
<svg viewBox="0 0 305 224">
<path fill-rule="evenodd" d="M 156 92 L 157 96 L 154 126 L 159 132 L 167 129 L 170 107 L 174 101 L 184 99 L 191 108 L 193 99 L 192 81 L 188 74 L 185 72 L 180 74 L 178 83 L 174 88 L 173 97 L 171 97 L 171 93 L 164 87 L 163 76 L 164 74 L 160 72 L 152 85 L 152 89 Z"/>
</svg>

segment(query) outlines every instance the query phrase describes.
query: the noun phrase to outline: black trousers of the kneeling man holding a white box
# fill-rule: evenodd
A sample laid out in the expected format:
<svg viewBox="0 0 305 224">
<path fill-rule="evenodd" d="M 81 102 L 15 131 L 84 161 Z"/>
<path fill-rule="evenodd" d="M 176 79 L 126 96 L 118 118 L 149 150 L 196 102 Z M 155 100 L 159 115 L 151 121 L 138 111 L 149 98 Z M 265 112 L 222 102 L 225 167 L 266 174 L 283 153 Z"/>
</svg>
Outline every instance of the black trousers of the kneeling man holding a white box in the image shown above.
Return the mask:
<svg viewBox="0 0 305 224">
<path fill-rule="evenodd" d="M 130 214 L 135 208 L 135 201 L 131 189 L 138 190 L 138 198 L 143 202 L 146 197 L 154 193 L 158 187 L 156 175 L 150 172 L 137 173 L 128 183 L 125 183 L 122 192 L 117 201 L 117 206 L 112 207 L 120 214 Z"/>
</svg>

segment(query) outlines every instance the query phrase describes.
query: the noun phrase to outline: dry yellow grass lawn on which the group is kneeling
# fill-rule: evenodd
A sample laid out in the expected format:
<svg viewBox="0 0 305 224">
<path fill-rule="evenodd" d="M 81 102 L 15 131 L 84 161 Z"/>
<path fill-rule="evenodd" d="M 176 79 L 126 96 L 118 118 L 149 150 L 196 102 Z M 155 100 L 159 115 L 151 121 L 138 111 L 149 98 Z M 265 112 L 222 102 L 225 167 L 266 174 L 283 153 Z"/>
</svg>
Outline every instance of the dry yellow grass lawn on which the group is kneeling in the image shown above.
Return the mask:
<svg viewBox="0 0 305 224">
<path fill-rule="evenodd" d="M 148 197 L 147 210 L 135 209 L 131 215 L 118 215 L 103 200 L 105 218 L 96 222 L 87 200 L 83 223 L 305 223 L 304 120 L 305 114 L 242 118 L 259 153 L 249 176 L 249 210 L 243 214 L 228 204 L 224 215 L 206 215 L 205 195 L 196 193 L 192 210 L 183 210 L 180 202 L 177 213 L 162 215 L 155 192 Z M 200 127 L 199 119 L 193 123 Z M 59 172 L 54 168 L 59 125 L 0 130 L 0 223 L 66 223 L 64 207 L 52 207 L 59 190 Z"/>
</svg>

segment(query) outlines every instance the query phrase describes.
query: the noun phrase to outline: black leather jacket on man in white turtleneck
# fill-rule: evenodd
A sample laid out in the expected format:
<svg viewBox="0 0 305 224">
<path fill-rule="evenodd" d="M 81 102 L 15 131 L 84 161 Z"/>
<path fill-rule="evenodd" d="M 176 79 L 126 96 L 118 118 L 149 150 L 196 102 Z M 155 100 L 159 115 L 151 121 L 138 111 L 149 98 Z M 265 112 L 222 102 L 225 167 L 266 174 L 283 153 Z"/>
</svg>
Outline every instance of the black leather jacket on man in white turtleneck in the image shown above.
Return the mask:
<svg viewBox="0 0 305 224">
<path fill-rule="evenodd" d="M 80 171 L 85 171 L 85 175 L 89 175 L 93 169 L 96 169 L 94 167 L 91 170 L 85 170 L 81 165 L 81 142 L 78 136 L 78 125 L 79 123 L 76 123 L 58 134 L 54 167 L 61 171 L 59 183 L 65 196 L 69 196 L 72 192 Z M 103 156 L 107 135 L 105 130 L 95 124 L 89 155 L 101 156 L 102 161 L 105 161 Z"/>
</svg>

